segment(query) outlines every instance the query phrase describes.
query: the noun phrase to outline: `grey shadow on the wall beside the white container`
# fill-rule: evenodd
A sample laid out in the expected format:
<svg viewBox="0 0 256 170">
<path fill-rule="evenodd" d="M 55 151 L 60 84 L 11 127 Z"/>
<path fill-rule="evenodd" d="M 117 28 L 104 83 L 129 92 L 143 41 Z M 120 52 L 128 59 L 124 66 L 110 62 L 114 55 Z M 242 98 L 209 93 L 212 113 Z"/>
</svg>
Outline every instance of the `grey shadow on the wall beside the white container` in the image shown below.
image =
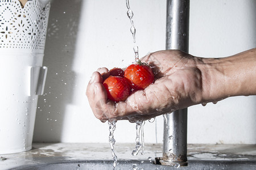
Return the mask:
<svg viewBox="0 0 256 170">
<path fill-rule="evenodd" d="M 44 95 L 39 96 L 34 142 L 59 142 L 65 105 L 72 103 L 76 75 L 72 71 L 82 0 L 53 0 L 43 66 L 48 67 Z M 51 139 L 51 141 L 44 141 Z"/>
</svg>

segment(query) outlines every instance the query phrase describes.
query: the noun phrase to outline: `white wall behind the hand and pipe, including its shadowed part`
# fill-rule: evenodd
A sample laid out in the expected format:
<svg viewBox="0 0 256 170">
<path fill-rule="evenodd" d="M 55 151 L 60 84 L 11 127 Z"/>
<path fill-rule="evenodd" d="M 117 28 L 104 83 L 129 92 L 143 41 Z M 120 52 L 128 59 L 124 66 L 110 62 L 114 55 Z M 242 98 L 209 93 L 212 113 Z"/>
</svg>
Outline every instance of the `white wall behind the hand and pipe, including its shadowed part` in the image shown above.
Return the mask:
<svg viewBox="0 0 256 170">
<path fill-rule="evenodd" d="M 130 0 L 140 56 L 165 48 L 166 1 Z M 85 96 L 98 67 L 134 61 L 125 0 L 52 1 L 34 141 L 108 142 L 108 124 L 90 110 Z M 255 0 L 191 0 L 189 52 L 224 57 L 256 46 Z M 188 109 L 188 143 L 256 143 L 256 97 L 231 97 Z M 162 142 L 163 117 L 146 122 L 145 142 Z M 135 124 L 118 121 L 117 142 L 135 141 Z"/>
</svg>

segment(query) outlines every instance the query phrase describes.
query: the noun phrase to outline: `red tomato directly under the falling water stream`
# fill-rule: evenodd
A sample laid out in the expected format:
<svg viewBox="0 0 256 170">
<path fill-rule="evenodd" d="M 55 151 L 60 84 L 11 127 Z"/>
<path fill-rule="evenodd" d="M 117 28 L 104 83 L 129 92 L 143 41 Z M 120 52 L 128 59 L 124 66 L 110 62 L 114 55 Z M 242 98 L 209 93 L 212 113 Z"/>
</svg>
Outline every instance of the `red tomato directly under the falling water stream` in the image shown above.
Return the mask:
<svg viewBox="0 0 256 170">
<path fill-rule="evenodd" d="M 134 90 L 142 90 L 154 82 L 154 73 L 146 64 L 132 64 L 125 70 L 125 78 Z"/>
</svg>

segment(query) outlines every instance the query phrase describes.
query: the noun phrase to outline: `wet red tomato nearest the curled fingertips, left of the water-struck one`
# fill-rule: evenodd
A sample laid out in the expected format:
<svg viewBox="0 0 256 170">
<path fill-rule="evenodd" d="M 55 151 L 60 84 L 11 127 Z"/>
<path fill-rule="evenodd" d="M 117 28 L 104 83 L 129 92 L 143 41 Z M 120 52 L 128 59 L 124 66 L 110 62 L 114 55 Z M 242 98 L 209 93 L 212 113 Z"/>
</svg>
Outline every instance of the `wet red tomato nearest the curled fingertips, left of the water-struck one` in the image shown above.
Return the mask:
<svg viewBox="0 0 256 170">
<path fill-rule="evenodd" d="M 108 99 L 113 101 L 125 101 L 130 95 L 131 88 L 125 78 L 121 76 L 109 76 L 104 82 Z"/>
</svg>

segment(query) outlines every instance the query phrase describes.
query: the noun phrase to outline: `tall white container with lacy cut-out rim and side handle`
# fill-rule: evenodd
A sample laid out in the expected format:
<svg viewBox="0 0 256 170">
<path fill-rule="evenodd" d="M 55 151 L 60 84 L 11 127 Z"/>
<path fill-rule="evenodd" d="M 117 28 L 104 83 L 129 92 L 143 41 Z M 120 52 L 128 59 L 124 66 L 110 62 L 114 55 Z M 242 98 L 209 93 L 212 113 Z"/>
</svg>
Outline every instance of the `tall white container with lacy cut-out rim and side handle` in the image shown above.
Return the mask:
<svg viewBox="0 0 256 170">
<path fill-rule="evenodd" d="M 0 0 L 0 154 L 31 149 L 50 5 Z"/>
</svg>

